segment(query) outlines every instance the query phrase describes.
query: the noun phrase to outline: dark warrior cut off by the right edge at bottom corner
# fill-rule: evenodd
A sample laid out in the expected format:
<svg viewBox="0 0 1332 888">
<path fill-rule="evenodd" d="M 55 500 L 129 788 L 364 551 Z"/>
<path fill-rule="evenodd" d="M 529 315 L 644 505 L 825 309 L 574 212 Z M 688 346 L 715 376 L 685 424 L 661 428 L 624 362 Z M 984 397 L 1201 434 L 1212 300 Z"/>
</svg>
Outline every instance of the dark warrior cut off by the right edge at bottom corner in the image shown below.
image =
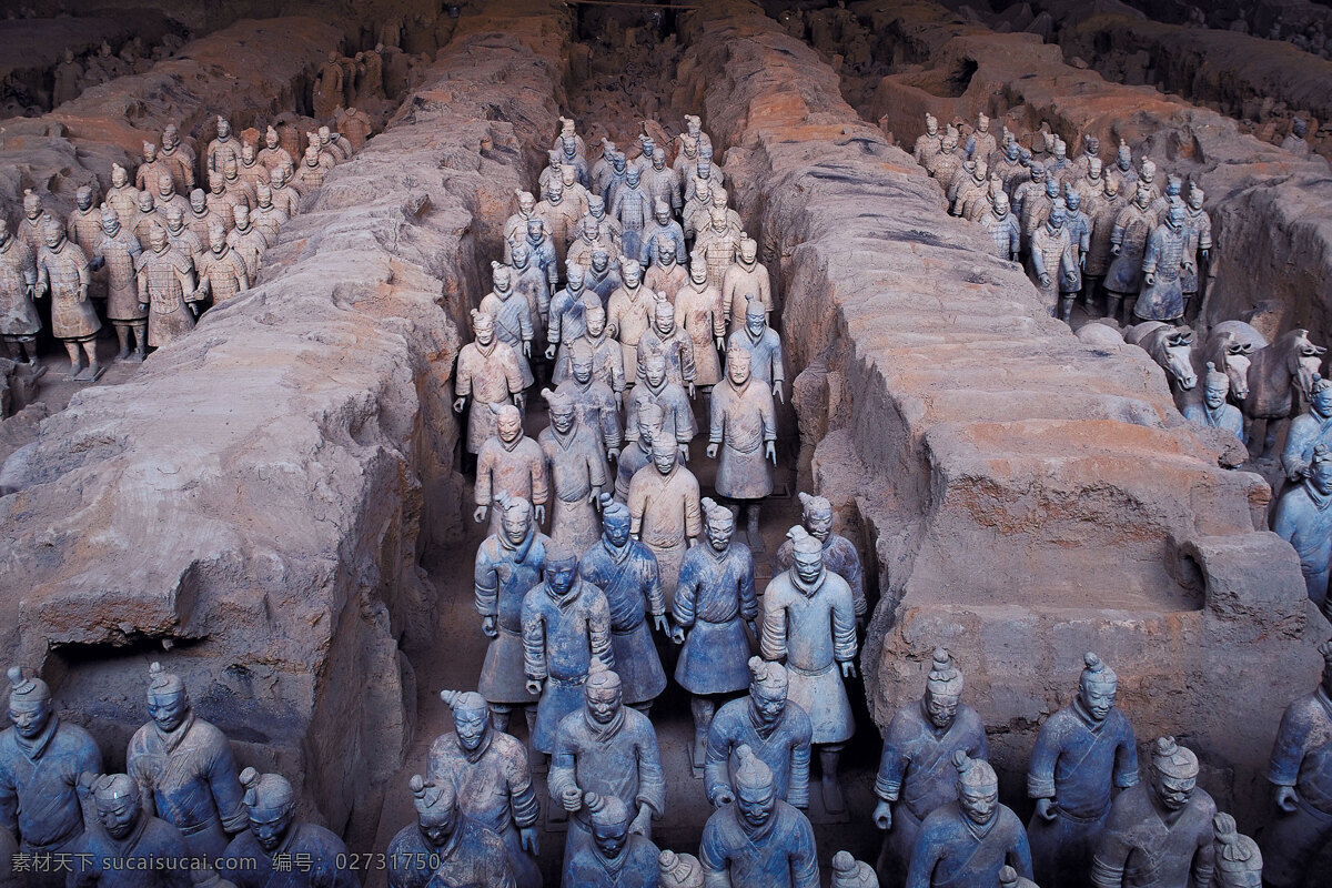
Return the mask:
<svg viewBox="0 0 1332 888">
<path fill-rule="evenodd" d="M 1327 875 L 1315 861 L 1332 839 L 1332 640 L 1319 652 L 1321 682 L 1285 707 L 1272 744 L 1276 813 L 1261 833 L 1272 888 L 1313 888 Z"/>
</svg>

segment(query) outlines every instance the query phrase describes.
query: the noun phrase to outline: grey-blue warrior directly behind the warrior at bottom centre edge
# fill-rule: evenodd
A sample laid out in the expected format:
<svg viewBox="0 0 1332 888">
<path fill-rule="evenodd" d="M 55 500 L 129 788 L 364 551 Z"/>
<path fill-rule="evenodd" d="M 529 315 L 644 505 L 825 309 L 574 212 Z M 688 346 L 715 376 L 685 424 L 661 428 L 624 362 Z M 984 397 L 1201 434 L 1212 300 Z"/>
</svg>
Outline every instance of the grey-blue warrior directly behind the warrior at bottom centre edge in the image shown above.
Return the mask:
<svg viewBox="0 0 1332 888">
<path fill-rule="evenodd" d="M 657 730 L 646 715 L 623 704 L 619 676 L 594 664 L 582 696 L 582 706 L 559 722 L 550 758 L 550 797 L 574 815 L 565 860 L 591 839 L 589 793 L 619 800 L 633 812 L 629 831 L 647 837 L 653 817 L 666 811 Z"/>
</svg>

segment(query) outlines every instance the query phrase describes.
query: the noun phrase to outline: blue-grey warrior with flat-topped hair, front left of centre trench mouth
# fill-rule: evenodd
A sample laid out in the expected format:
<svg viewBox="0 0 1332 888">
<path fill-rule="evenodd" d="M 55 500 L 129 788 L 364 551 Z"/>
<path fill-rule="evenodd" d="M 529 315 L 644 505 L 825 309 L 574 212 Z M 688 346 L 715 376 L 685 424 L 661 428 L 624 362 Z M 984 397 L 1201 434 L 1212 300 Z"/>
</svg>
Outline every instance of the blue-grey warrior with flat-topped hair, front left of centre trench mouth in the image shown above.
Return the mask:
<svg viewBox="0 0 1332 888">
<path fill-rule="evenodd" d="M 440 699 L 453 711 L 453 731 L 430 744 L 426 779 L 452 785 L 458 811 L 500 836 L 517 888 L 541 888 L 535 860 L 541 804 L 527 750 L 493 723 L 493 702 L 486 718 L 481 694 L 446 690 L 440 691 Z"/>
</svg>

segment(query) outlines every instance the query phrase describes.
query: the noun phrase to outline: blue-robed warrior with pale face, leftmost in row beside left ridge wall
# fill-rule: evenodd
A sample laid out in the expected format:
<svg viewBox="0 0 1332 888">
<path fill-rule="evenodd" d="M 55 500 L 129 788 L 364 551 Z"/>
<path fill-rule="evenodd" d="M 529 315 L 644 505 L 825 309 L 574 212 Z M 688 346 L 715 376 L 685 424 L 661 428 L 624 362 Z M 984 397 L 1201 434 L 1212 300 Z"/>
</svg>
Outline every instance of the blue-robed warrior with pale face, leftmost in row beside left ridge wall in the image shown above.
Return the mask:
<svg viewBox="0 0 1332 888">
<path fill-rule="evenodd" d="M 507 731 L 514 707 L 523 710 L 529 728 L 537 718 L 537 698 L 522 672 L 522 600 L 541 582 L 550 538 L 533 521 L 530 502 L 505 493 L 497 502 L 500 533 L 482 541 L 473 571 L 481 631 L 490 639 L 477 690 L 490 704 L 496 731 Z"/>
</svg>

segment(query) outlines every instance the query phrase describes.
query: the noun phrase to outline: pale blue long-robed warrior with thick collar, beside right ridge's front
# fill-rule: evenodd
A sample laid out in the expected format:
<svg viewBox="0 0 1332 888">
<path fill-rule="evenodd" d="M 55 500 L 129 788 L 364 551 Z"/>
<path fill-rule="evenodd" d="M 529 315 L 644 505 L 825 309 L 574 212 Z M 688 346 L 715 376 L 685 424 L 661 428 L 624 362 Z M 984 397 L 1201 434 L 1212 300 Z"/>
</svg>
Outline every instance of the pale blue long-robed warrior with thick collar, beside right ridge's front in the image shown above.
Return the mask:
<svg viewBox="0 0 1332 888">
<path fill-rule="evenodd" d="M 855 731 L 843 679 L 855 678 L 855 606 L 846 580 L 827 570 L 823 543 L 793 527 L 795 566 L 763 595 L 763 659 L 785 662 L 790 698 L 809 716 L 823 771 L 823 807 L 846 809 L 838 783 L 842 748 Z M 840 674 L 839 674 L 840 672 Z"/>
</svg>

